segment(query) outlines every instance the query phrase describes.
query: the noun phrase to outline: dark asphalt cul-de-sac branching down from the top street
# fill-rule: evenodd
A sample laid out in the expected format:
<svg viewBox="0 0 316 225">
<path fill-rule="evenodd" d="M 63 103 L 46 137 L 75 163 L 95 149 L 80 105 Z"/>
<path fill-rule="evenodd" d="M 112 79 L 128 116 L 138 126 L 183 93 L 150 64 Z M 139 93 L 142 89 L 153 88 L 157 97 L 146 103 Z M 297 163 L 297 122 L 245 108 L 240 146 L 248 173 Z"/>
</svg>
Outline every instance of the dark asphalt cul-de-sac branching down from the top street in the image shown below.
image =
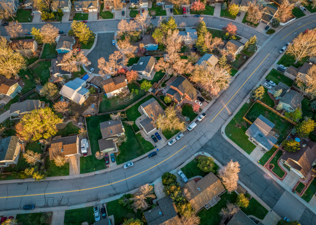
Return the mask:
<svg viewBox="0 0 316 225">
<path fill-rule="evenodd" d="M 91 62 L 89 68 L 94 68 L 94 73 L 99 73 L 98 59 L 104 57 L 106 61 L 109 60 L 109 55 L 118 50 L 115 45 L 112 45 L 114 33 L 99 33 L 97 43 L 94 49 L 88 54 L 87 58 Z"/>
</svg>

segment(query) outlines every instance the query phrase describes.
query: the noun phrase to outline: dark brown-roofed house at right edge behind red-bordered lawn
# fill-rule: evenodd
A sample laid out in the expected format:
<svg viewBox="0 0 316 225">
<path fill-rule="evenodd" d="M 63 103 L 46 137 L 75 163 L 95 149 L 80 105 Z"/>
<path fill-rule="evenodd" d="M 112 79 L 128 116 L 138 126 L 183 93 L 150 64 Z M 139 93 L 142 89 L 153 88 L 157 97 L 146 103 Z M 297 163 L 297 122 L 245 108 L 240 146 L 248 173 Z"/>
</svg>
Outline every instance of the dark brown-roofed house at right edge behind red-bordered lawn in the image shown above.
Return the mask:
<svg viewBox="0 0 316 225">
<path fill-rule="evenodd" d="M 280 162 L 289 166 L 301 178 L 307 178 L 307 175 L 315 165 L 315 160 L 316 143 L 302 140 L 300 142 L 300 150 L 295 152 L 286 151 L 281 157 Z"/>
</svg>

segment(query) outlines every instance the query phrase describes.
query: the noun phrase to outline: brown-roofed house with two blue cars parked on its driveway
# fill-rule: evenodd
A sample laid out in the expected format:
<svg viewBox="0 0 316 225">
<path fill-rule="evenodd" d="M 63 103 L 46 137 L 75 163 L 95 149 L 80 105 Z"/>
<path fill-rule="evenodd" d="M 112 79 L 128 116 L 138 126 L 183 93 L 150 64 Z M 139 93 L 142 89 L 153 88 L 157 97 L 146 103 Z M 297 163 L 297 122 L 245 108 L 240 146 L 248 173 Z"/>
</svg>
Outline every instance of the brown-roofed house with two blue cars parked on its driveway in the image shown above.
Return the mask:
<svg viewBox="0 0 316 225">
<path fill-rule="evenodd" d="M 146 119 L 140 121 L 140 126 L 148 135 L 150 132 L 157 129 L 155 123 L 158 120 L 158 116 L 159 114 L 164 115 L 165 111 L 162 109 L 155 98 L 149 99 L 148 101 L 141 104 L 140 107 L 143 113 L 147 116 Z"/>
</svg>

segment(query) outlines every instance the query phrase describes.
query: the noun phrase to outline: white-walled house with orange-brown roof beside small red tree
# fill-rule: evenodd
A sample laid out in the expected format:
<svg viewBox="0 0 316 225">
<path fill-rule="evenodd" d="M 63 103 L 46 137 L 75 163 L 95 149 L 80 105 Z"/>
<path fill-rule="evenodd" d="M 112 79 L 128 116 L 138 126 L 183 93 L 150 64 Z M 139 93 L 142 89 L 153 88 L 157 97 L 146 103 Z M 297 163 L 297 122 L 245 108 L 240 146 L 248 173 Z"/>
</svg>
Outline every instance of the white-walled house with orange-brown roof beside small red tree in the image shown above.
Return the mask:
<svg viewBox="0 0 316 225">
<path fill-rule="evenodd" d="M 102 80 L 101 84 L 104 88 L 107 98 L 117 96 L 121 92 L 123 92 L 123 94 L 129 93 L 127 80 L 124 75 Z"/>
</svg>

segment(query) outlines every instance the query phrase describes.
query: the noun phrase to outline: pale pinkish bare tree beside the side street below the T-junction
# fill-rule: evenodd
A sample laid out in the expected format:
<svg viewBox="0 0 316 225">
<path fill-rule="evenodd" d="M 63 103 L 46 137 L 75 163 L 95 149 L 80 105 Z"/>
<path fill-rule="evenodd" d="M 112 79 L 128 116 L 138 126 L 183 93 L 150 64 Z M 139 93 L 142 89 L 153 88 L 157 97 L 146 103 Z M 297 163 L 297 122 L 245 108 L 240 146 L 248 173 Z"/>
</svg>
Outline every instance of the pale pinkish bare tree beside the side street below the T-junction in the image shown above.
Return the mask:
<svg viewBox="0 0 316 225">
<path fill-rule="evenodd" d="M 231 193 L 237 188 L 237 181 L 239 179 L 238 173 L 240 171 L 239 167 L 240 164 L 238 162 L 233 162 L 233 160 L 231 160 L 218 170 L 218 176 L 222 180 L 228 193 Z"/>
</svg>

